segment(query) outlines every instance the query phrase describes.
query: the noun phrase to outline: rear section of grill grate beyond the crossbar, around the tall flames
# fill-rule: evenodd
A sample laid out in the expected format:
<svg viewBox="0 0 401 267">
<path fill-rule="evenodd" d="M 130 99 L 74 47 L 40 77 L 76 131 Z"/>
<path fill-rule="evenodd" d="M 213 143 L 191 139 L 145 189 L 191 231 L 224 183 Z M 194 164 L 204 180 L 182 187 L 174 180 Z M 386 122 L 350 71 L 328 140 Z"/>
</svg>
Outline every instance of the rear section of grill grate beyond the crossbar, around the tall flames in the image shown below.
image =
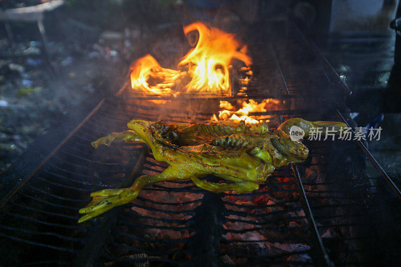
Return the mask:
<svg viewBox="0 0 401 267">
<path fill-rule="evenodd" d="M 254 29 L 259 29 L 258 33 Z M 241 34 L 240 34 L 241 36 Z M 253 59 L 253 78 L 247 90 L 232 79 L 232 95 L 148 95 L 132 90 L 127 82 L 117 96 L 143 99 L 176 98 L 338 98 L 351 91 L 322 56 L 313 42 L 308 41 L 289 22 L 251 25 L 241 36 L 246 40 Z M 238 76 L 233 71 L 233 77 Z"/>
</svg>

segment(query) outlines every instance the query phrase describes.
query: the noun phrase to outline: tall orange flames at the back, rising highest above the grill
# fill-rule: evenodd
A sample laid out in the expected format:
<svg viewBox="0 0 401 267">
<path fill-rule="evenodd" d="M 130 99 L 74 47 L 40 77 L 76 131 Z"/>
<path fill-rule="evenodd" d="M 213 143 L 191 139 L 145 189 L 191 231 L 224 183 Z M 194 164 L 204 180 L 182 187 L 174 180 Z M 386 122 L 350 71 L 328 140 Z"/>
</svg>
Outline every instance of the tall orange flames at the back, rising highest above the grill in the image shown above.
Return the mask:
<svg viewBox="0 0 401 267">
<path fill-rule="evenodd" d="M 229 94 L 231 92 L 230 64 L 240 60 L 249 68 L 252 59 L 246 54 L 247 46 L 235 40 L 234 34 L 203 23 L 183 28 L 185 35 L 197 31 L 195 48 L 178 63 L 177 70 L 162 68 L 150 55 L 131 66 L 131 87 L 149 94 L 169 95 L 184 93 Z"/>
</svg>

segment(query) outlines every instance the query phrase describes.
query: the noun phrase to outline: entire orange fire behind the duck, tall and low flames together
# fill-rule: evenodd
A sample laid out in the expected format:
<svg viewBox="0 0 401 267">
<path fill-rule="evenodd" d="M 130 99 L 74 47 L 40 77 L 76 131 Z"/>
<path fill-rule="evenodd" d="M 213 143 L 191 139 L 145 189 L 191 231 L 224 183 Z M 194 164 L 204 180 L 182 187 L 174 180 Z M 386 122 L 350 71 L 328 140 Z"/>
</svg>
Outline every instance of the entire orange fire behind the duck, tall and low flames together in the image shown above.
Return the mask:
<svg viewBox="0 0 401 267">
<path fill-rule="evenodd" d="M 217 28 L 207 27 L 203 23 L 193 23 L 183 28 L 184 34 L 197 31 L 196 46 L 178 63 L 177 69 L 166 69 L 151 56 L 146 55 L 131 65 L 131 87 L 143 90 L 147 94 L 176 95 L 179 93 L 194 94 L 230 94 L 230 64 L 233 59 L 242 61 L 245 66 L 239 68 L 247 77 L 239 79 L 241 92 L 253 76 L 250 68 L 252 59 L 247 55 L 247 46 L 240 44 L 234 34 L 223 32 Z M 193 42 L 195 43 L 195 42 Z M 282 105 L 280 100 L 264 99 L 261 103 L 253 99 L 237 100 L 235 106 L 228 101 L 220 101 L 219 116 L 212 121 L 244 120 L 248 124 L 269 121 L 272 116 L 249 115 L 266 112 Z"/>
</svg>

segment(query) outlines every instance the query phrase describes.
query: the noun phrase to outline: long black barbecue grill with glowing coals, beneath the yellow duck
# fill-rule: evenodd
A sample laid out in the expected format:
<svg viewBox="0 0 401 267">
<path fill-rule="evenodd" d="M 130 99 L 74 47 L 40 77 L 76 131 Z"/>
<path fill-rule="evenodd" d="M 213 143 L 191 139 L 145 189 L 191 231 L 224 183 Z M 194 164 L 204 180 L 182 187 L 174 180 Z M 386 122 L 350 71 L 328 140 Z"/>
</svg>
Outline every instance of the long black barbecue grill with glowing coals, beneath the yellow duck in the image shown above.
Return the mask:
<svg viewBox="0 0 401 267">
<path fill-rule="evenodd" d="M 342 120 L 352 126 L 343 104 L 350 91 L 317 48 L 296 27 L 272 25 L 267 32 L 278 29 L 286 38 L 250 38 L 250 51 L 258 57 L 253 57 L 256 80 L 247 97 L 275 97 L 286 100 L 286 105 L 256 115 L 271 115 L 273 128 L 293 117 Z M 291 59 L 300 53 L 297 50 L 302 50 L 310 69 Z M 273 78 L 264 87 L 264 75 L 270 73 Z M 277 169 L 258 191 L 215 194 L 191 181 L 161 182 L 142 189 L 131 203 L 77 224 L 78 209 L 89 203 L 90 192 L 127 187 L 141 174 L 166 168 L 144 144 L 119 143 L 95 150 L 92 141 L 126 130 L 133 118 L 208 121 L 220 99 L 245 97 L 235 93 L 220 98 L 152 97 L 166 100 L 159 105 L 131 92 L 128 84 L 102 100 L 2 200 L 4 262 L 107 266 L 397 262 L 401 229 L 396 211 L 401 194 L 360 141 L 305 141 L 308 159 Z M 377 168 L 377 177 L 367 175 L 366 164 Z"/>
</svg>

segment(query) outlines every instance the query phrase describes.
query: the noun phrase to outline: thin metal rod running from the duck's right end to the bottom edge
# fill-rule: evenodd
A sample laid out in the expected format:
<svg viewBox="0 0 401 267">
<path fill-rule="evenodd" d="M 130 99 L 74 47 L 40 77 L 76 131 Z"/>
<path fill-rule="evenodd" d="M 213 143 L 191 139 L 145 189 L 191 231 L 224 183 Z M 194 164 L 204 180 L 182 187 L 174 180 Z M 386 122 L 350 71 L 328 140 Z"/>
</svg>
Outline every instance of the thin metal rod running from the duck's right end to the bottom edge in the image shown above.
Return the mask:
<svg viewBox="0 0 401 267">
<path fill-rule="evenodd" d="M 315 250 L 318 254 L 318 258 L 316 259 L 317 260 L 316 265 L 318 265 L 318 266 L 334 266 L 334 264 L 330 261 L 330 258 L 327 255 L 326 250 L 324 249 L 322 238 L 320 238 L 320 234 L 317 230 L 316 222 L 315 222 L 315 219 L 313 218 L 312 210 L 309 206 L 309 202 L 306 197 L 304 187 L 302 185 L 298 167 L 296 165 L 291 164 L 291 168 L 294 172 L 295 180 L 298 184 L 299 193 L 301 195 L 301 201 L 304 206 L 305 216 L 308 219 L 309 228 L 311 229 L 312 242 L 313 242 Z"/>
</svg>

